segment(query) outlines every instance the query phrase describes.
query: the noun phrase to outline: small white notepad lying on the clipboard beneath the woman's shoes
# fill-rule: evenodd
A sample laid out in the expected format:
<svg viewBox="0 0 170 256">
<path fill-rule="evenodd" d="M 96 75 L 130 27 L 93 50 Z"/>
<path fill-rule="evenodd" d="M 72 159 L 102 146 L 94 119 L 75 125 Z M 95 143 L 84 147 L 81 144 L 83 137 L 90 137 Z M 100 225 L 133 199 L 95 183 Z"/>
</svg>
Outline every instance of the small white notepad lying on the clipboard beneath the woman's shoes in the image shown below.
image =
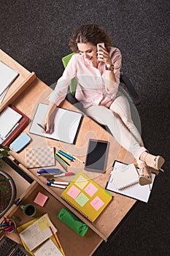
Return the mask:
<svg viewBox="0 0 170 256">
<path fill-rule="evenodd" d="M 119 163 L 113 169 L 112 178 L 117 189 L 124 189 L 138 183 L 139 174 L 134 164 L 123 165 Z"/>
</svg>

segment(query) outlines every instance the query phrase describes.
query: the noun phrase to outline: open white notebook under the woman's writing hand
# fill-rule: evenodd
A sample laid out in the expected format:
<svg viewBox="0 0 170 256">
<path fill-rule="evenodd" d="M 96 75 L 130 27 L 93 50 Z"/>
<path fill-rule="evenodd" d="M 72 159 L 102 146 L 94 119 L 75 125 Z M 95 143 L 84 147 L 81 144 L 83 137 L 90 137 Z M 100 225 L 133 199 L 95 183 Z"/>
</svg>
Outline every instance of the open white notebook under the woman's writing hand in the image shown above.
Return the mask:
<svg viewBox="0 0 170 256">
<path fill-rule="evenodd" d="M 45 133 L 39 124 L 43 125 L 47 110 L 47 104 L 39 103 L 37 105 L 36 113 L 31 123 L 29 132 L 34 135 L 39 135 L 54 140 L 61 140 L 66 143 L 73 144 L 80 128 L 82 113 L 63 108 L 56 108 L 51 116 L 51 120 L 54 124 L 53 132 Z"/>
</svg>

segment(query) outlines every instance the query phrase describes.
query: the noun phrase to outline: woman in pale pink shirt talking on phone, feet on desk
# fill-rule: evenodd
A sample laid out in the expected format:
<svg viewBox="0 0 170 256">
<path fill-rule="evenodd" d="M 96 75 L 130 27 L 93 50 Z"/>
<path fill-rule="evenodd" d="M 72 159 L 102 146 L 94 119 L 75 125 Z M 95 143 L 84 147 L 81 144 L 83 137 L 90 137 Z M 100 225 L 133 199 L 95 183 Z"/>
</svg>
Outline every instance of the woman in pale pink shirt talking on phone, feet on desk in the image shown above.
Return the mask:
<svg viewBox="0 0 170 256">
<path fill-rule="evenodd" d="M 97 44 L 104 42 L 104 47 Z M 88 116 L 107 125 L 115 139 L 130 151 L 139 165 L 139 184 L 152 183 L 149 167 L 160 170 L 164 159 L 147 152 L 133 121 L 128 99 L 118 91 L 120 83 L 121 53 L 113 48 L 107 31 L 96 24 L 80 26 L 70 38 L 72 56 L 57 86 L 50 94 L 45 119 L 46 132 L 50 132 L 50 116 L 65 99 L 72 78 L 77 79 L 75 97 L 82 102 Z"/>
</svg>

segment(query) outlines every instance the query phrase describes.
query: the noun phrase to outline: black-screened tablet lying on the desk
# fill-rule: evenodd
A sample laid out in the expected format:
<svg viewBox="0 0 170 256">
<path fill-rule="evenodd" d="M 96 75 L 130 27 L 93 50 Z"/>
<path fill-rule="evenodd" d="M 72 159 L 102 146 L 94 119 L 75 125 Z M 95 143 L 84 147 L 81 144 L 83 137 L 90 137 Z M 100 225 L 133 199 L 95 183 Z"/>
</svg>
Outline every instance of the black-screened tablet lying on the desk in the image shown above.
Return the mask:
<svg viewBox="0 0 170 256">
<path fill-rule="evenodd" d="M 88 151 L 85 159 L 85 170 L 105 173 L 108 148 L 108 141 L 90 139 L 88 142 Z"/>
</svg>

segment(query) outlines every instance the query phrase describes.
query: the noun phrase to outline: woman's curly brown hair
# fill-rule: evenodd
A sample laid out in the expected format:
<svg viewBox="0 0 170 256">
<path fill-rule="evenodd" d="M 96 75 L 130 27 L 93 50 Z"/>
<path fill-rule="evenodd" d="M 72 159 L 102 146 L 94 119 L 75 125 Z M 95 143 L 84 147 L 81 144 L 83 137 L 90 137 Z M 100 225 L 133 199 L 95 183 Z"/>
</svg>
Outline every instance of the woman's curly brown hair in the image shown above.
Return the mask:
<svg viewBox="0 0 170 256">
<path fill-rule="evenodd" d="M 104 45 L 111 46 L 112 39 L 108 32 L 97 24 L 83 24 L 70 37 L 69 46 L 74 53 L 79 53 L 77 43 L 90 42 L 92 45 L 97 45 L 98 42 L 104 42 Z"/>
</svg>

